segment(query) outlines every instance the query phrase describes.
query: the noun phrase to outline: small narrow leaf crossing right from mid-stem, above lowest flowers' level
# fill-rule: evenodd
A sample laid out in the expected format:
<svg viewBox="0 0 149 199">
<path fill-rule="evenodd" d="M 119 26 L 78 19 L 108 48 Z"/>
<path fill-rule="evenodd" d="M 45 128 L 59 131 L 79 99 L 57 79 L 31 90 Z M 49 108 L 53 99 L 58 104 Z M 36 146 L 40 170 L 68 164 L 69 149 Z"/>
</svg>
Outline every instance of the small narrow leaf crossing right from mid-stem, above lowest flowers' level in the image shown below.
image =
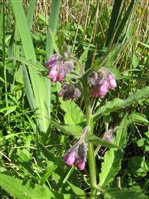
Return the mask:
<svg viewBox="0 0 149 199">
<path fill-rule="evenodd" d="M 104 147 L 109 147 L 109 148 L 118 148 L 118 146 L 116 146 L 115 144 L 112 144 L 110 142 L 107 142 L 95 135 L 88 135 L 86 138 L 86 142 L 90 142 L 93 143 L 95 145 L 101 145 Z"/>
</svg>

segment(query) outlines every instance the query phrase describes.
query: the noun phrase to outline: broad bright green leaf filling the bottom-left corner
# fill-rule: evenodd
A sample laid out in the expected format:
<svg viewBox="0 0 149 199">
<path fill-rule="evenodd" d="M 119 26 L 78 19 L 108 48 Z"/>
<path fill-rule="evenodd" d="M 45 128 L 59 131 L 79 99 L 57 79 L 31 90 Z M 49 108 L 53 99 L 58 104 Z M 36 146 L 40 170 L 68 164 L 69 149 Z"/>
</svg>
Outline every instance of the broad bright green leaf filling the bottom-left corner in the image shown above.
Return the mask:
<svg viewBox="0 0 149 199">
<path fill-rule="evenodd" d="M 12 197 L 18 199 L 46 199 L 55 198 L 54 193 L 47 186 L 32 184 L 29 181 L 10 176 L 9 174 L 0 173 L 0 186 Z"/>
</svg>

